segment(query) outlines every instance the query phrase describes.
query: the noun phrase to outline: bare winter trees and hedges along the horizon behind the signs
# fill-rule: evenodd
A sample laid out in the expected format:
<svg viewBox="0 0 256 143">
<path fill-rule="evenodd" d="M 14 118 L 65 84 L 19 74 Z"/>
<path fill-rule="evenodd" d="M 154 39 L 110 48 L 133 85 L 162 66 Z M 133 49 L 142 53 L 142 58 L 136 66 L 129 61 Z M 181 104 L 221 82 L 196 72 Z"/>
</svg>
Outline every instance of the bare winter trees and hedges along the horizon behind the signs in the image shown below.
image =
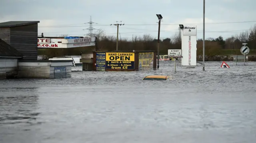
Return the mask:
<svg viewBox="0 0 256 143">
<path fill-rule="evenodd" d="M 69 48 L 69 49 L 49 49 L 48 52 L 39 53 L 63 56 L 63 55 L 79 55 L 81 52 L 91 51 L 115 51 L 116 50 L 116 37 L 104 35 L 103 30 L 99 30 L 95 35 L 97 37 L 97 46 L 89 48 Z M 216 38 L 205 39 L 205 55 L 206 61 L 218 61 L 223 60 L 228 55 L 241 55 L 240 48 L 242 43 L 248 43 L 250 47 L 249 55 L 256 54 L 256 24 L 248 29 L 248 31 L 242 31 L 237 35 L 232 35 L 227 39 L 223 39 L 220 35 Z M 96 48 L 97 47 L 97 48 Z M 203 40 L 197 40 L 197 57 L 198 60 L 202 59 L 202 47 Z M 181 49 L 181 38 L 178 33 L 175 33 L 172 37 L 160 39 L 160 54 L 167 54 L 168 49 Z M 254 51 L 255 49 L 255 51 Z M 47 50 L 47 49 L 46 49 Z M 118 50 L 132 51 L 132 50 L 145 50 L 145 51 L 157 51 L 157 39 L 153 38 L 150 34 L 145 34 L 142 37 L 133 36 L 131 40 L 119 39 Z M 227 59 L 226 59 L 227 60 Z"/>
</svg>

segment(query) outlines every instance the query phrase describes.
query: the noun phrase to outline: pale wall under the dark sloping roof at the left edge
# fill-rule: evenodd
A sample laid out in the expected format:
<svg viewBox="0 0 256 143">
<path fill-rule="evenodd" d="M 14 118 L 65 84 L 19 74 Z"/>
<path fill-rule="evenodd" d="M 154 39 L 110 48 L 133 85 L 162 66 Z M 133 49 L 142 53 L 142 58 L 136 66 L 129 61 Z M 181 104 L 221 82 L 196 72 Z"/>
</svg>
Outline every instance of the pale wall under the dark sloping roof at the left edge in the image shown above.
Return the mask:
<svg viewBox="0 0 256 143">
<path fill-rule="evenodd" d="M 18 75 L 18 59 L 0 59 L 0 79 Z"/>
</svg>

